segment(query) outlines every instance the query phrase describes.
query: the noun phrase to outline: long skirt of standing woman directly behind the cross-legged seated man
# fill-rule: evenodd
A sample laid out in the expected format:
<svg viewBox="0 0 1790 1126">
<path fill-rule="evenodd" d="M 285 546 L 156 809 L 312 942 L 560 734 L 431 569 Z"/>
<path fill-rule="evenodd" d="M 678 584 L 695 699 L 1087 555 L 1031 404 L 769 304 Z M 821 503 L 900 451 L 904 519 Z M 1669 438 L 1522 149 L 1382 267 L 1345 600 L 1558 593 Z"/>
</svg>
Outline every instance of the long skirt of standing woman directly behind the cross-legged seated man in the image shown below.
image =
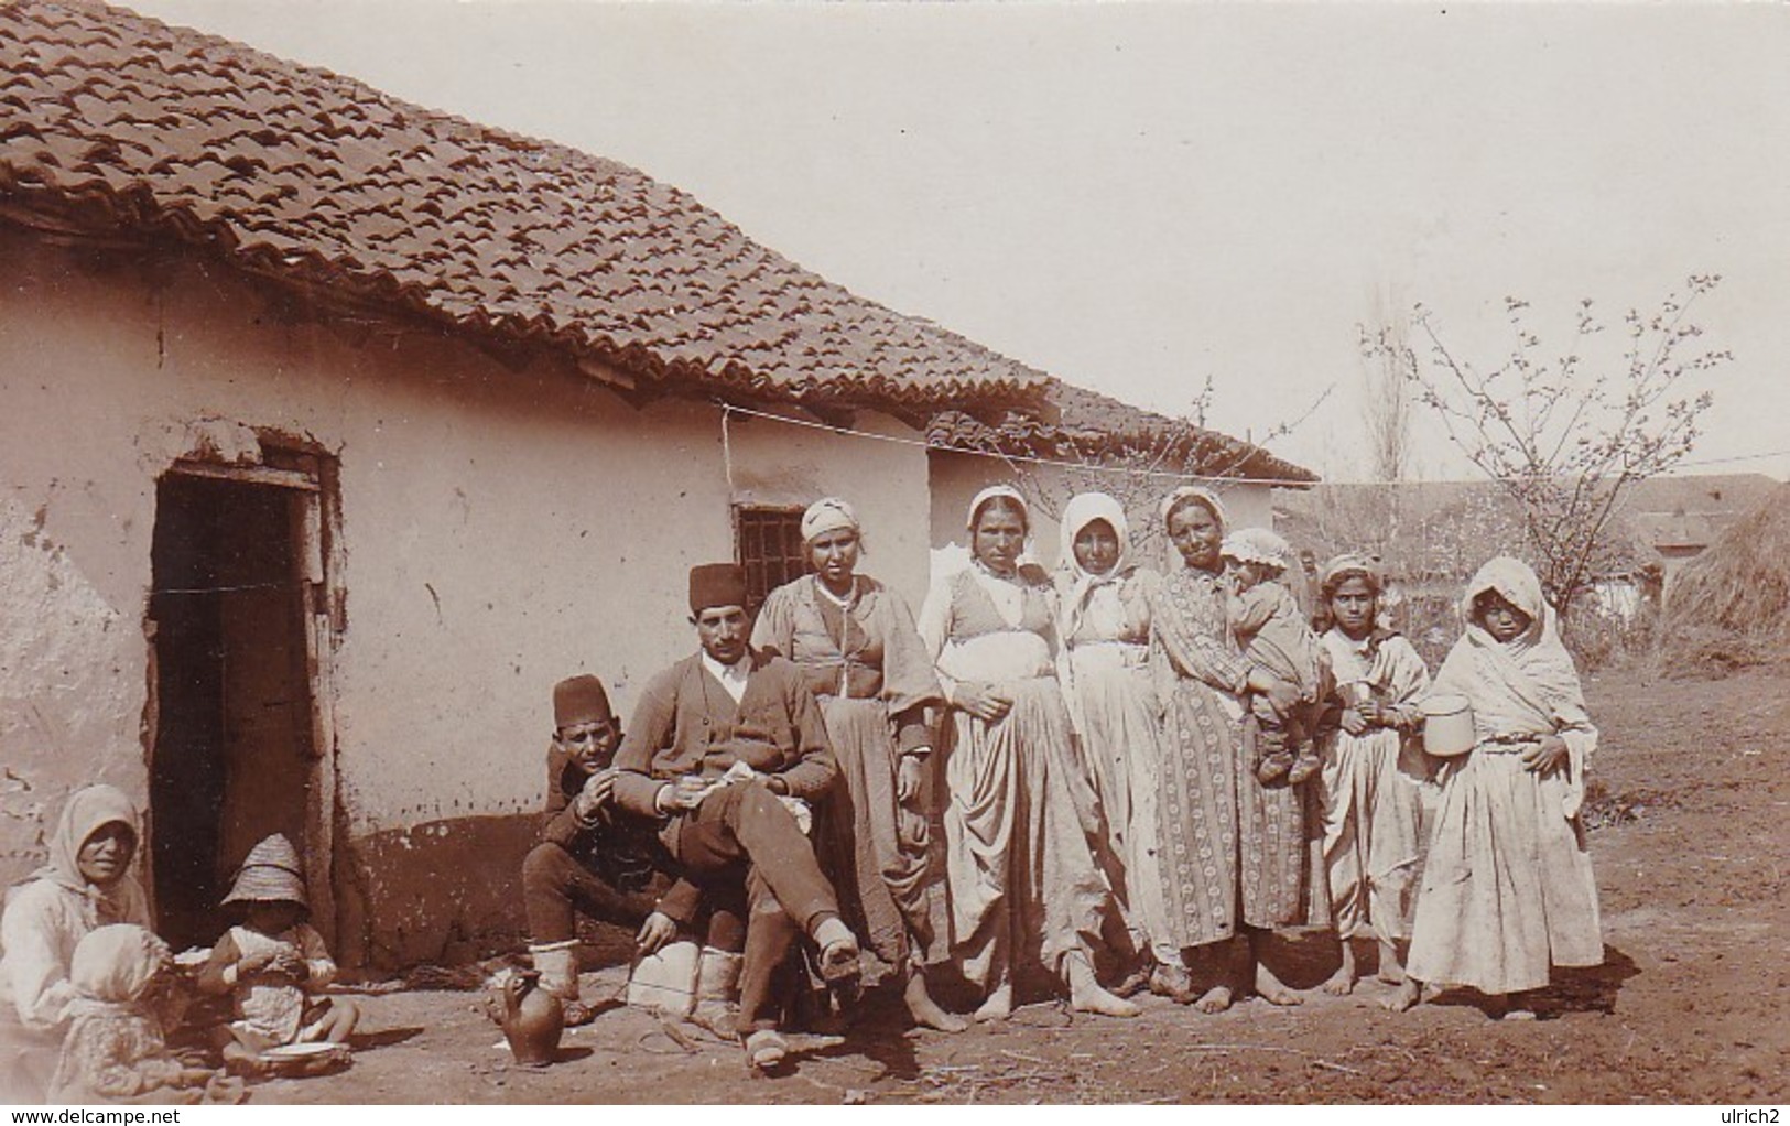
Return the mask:
<svg viewBox="0 0 1790 1126">
<path fill-rule="evenodd" d="M 822 696 L 820 711 L 841 777 L 816 816 L 820 861 L 847 924 L 877 958 L 904 967 L 909 940 L 925 951 L 933 933 L 924 806 L 895 800 L 900 763 L 881 700 Z"/>
</svg>

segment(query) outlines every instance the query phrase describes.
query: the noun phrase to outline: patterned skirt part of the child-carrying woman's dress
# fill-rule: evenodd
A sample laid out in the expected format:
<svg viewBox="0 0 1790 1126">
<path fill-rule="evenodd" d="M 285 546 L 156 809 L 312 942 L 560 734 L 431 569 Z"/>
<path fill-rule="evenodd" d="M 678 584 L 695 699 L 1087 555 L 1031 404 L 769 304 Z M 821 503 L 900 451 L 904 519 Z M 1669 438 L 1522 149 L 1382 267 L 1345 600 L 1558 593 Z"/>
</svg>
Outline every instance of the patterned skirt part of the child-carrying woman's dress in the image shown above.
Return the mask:
<svg viewBox="0 0 1790 1126">
<path fill-rule="evenodd" d="M 1235 705 L 1235 702 L 1230 702 Z M 1156 809 L 1171 942 L 1224 942 L 1239 924 L 1305 922 L 1312 850 L 1301 786 L 1264 786 L 1242 754 L 1242 709 L 1178 678 L 1162 734 Z"/>
</svg>

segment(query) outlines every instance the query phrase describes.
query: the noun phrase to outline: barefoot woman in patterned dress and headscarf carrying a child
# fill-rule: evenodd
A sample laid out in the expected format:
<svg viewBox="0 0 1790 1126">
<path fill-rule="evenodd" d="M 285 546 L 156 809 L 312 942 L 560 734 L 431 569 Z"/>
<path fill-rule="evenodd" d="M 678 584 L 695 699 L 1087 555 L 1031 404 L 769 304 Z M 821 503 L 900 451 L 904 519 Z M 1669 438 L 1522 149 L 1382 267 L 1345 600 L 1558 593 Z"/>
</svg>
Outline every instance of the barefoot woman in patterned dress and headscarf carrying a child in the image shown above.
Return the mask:
<svg viewBox="0 0 1790 1126">
<path fill-rule="evenodd" d="M 1264 784 L 1242 754 L 1242 695 L 1292 707 L 1300 689 L 1249 664 L 1224 614 L 1224 507 L 1206 489 L 1183 485 L 1162 501 L 1169 542 L 1181 557 L 1149 603 L 1151 671 L 1164 705 L 1162 797 L 1156 807 L 1160 888 L 1176 947 L 1208 947 L 1232 963 L 1242 929 L 1242 968 L 1196 1002 L 1215 1013 L 1251 988 L 1273 1004 L 1300 995 L 1262 965 L 1273 927 L 1305 917 L 1305 806 L 1285 779 Z"/>
</svg>

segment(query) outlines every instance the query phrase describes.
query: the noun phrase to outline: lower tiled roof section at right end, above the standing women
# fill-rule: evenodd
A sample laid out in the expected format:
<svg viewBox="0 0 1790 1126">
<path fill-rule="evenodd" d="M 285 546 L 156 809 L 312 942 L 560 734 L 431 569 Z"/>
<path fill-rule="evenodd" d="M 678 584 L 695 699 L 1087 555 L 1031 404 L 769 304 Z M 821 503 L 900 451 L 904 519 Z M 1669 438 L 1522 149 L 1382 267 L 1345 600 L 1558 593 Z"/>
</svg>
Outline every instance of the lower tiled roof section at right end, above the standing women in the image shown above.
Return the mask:
<svg viewBox="0 0 1790 1126">
<path fill-rule="evenodd" d="M 1164 473 L 1242 478 L 1305 487 L 1317 474 L 1260 446 L 1147 412 L 1074 383 L 1051 380 L 1042 417 L 1010 412 L 986 422 L 968 412 L 936 415 L 927 440 L 945 449 L 983 449 L 1045 458 L 1147 460 Z"/>
</svg>

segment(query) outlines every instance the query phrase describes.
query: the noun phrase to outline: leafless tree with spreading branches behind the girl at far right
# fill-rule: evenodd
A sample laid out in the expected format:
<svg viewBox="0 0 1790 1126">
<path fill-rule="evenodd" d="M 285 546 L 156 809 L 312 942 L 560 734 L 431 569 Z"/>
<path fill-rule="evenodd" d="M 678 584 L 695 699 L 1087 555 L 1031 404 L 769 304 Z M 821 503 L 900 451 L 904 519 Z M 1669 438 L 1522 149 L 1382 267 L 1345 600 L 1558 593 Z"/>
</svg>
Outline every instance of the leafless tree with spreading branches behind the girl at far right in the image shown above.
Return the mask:
<svg viewBox="0 0 1790 1126">
<path fill-rule="evenodd" d="M 1579 303 L 1570 345 L 1547 358 L 1529 329 L 1529 303 L 1505 297 L 1514 340 L 1489 369 L 1461 358 L 1421 304 L 1411 324 L 1423 354 L 1387 326 L 1362 329 L 1364 354 L 1396 365 L 1416 401 L 1516 503 L 1522 548 L 1563 621 L 1598 575 L 1629 562 L 1615 533 L 1624 490 L 1672 469 L 1697 442 L 1697 419 L 1713 397 L 1693 387 L 1733 356 L 1700 342 L 1690 310 L 1718 281 L 1693 274 L 1684 295 L 1668 295 L 1658 311 L 1629 310 L 1620 349 L 1602 360 L 1586 356 L 1606 331 L 1590 299 Z"/>
</svg>

